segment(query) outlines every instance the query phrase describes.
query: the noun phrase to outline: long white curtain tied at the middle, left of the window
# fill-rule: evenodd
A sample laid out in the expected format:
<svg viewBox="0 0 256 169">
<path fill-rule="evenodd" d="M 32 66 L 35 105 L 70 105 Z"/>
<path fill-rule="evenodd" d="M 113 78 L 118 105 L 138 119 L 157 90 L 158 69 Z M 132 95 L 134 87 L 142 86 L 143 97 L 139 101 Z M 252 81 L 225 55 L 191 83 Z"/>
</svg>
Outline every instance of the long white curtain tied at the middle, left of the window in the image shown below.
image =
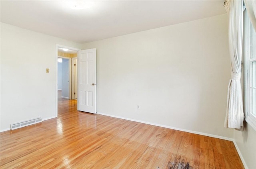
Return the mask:
<svg viewBox="0 0 256 169">
<path fill-rule="evenodd" d="M 243 35 L 242 0 L 226 0 L 228 13 L 228 38 L 231 61 L 231 79 L 228 85 L 227 110 L 224 126 L 241 128 L 244 121 L 244 110 L 241 89 L 241 60 Z"/>
</svg>

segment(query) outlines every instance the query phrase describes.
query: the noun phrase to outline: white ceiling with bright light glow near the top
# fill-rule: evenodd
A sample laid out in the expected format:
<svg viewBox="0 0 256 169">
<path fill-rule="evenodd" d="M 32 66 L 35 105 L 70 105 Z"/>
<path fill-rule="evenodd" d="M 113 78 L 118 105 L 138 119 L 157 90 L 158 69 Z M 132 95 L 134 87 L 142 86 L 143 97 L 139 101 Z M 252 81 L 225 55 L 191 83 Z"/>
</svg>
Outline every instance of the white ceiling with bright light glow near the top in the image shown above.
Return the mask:
<svg viewBox="0 0 256 169">
<path fill-rule="evenodd" d="M 86 43 L 225 14 L 224 0 L 0 0 L 1 22 Z"/>
</svg>

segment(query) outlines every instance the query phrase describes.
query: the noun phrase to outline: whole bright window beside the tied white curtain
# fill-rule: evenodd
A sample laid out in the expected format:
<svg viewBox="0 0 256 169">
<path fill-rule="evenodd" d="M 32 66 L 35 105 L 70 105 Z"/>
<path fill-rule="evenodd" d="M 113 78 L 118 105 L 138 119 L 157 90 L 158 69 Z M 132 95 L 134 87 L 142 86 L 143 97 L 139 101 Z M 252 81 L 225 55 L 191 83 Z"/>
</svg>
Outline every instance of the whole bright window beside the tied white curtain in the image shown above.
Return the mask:
<svg viewBox="0 0 256 169">
<path fill-rule="evenodd" d="M 245 120 L 256 130 L 256 33 L 244 10 Z"/>
</svg>

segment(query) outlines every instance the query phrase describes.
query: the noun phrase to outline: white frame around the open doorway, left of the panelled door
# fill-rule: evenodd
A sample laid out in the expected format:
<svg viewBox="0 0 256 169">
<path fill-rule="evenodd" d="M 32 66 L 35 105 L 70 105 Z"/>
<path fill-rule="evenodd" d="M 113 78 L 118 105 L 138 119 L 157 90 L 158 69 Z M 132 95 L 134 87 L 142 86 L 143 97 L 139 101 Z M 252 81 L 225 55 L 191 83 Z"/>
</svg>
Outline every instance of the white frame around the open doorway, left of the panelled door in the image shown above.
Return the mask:
<svg viewBox="0 0 256 169">
<path fill-rule="evenodd" d="M 55 72 L 56 72 L 55 73 L 55 117 L 58 117 L 58 47 L 70 49 L 70 50 L 77 51 L 77 52 L 81 50 L 81 49 L 78 49 L 75 47 L 70 47 L 70 46 L 65 46 L 65 45 L 60 45 L 60 44 L 55 45 Z M 70 90 L 70 92 L 71 92 L 71 90 Z"/>
</svg>

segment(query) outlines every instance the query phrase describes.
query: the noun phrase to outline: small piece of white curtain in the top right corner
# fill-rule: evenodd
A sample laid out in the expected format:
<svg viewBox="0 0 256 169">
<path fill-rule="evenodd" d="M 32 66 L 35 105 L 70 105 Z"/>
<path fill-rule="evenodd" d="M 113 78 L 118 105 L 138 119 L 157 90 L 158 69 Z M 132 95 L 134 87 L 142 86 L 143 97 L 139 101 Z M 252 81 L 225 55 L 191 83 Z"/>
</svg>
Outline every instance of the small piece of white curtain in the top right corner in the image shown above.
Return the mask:
<svg viewBox="0 0 256 169">
<path fill-rule="evenodd" d="M 244 0 L 247 14 L 249 15 L 250 21 L 254 30 L 256 31 L 256 0 Z"/>
</svg>

